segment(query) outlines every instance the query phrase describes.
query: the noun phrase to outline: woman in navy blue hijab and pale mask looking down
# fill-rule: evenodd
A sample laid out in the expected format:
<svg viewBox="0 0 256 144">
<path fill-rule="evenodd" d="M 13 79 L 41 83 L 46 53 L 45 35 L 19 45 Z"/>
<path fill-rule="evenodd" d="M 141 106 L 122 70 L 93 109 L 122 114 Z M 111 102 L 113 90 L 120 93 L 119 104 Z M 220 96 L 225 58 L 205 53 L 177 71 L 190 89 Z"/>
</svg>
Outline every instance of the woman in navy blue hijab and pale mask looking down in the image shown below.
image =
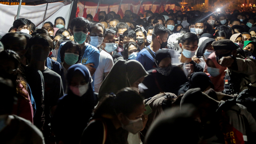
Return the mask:
<svg viewBox="0 0 256 144">
<path fill-rule="evenodd" d="M 81 64 L 70 66 L 66 75 L 68 92 L 58 100 L 51 121 L 57 143 L 79 144 L 95 106 L 88 68 Z"/>
</svg>

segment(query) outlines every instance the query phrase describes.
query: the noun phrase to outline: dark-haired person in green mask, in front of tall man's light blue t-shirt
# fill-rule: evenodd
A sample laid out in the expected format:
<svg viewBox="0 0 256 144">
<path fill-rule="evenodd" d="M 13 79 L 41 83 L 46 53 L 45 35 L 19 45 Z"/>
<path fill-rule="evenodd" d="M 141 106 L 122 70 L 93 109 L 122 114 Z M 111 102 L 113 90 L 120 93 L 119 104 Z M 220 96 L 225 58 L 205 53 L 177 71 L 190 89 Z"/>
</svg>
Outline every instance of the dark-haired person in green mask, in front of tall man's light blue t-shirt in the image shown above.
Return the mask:
<svg viewBox="0 0 256 144">
<path fill-rule="evenodd" d="M 70 66 L 79 62 L 81 55 L 81 48 L 78 46 L 78 43 L 74 41 L 66 42 L 60 49 L 60 59 L 62 66 L 61 78 L 63 82 L 64 92 L 66 92 L 67 70 L 68 68 L 70 68 Z"/>
</svg>

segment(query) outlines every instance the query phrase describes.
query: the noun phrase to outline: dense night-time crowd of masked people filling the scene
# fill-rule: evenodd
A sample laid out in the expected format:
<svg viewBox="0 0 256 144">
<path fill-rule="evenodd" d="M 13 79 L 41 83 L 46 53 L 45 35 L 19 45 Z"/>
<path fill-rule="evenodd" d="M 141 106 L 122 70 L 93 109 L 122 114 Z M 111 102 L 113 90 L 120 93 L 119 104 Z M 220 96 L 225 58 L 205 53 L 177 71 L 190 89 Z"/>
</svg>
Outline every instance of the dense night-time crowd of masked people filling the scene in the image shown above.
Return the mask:
<svg viewBox="0 0 256 144">
<path fill-rule="evenodd" d="M 255 144 L 255 46 L 250 10 L 18 18 L 0 39 L 1 143 Z"/>
</svg>

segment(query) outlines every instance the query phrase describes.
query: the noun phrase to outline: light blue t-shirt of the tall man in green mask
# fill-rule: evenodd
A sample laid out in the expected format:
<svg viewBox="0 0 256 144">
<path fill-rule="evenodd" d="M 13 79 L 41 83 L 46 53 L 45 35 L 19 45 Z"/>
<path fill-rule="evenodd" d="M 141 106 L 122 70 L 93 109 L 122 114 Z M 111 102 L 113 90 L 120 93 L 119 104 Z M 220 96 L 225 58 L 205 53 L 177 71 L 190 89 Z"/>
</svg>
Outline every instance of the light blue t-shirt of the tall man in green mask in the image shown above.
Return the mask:
<svg viewBox="0 0 256 144">
<path fill-rule="evenodd" d="M 81 64 L 89 64 L 89 63 L 93 63 L 94 66 L 92 66 L 93 68 L 98 68 L 99 63 L 100 63 L 100 51 L 98 50 L 98 48 L 88 44 L 88 46 L 86 46 L 85 50 L 84 50 L 84 55 L 82 56 L 81 59 Z M 92 76 L 92 89 L 94 90 L 94 75 Z"/>
</svg>

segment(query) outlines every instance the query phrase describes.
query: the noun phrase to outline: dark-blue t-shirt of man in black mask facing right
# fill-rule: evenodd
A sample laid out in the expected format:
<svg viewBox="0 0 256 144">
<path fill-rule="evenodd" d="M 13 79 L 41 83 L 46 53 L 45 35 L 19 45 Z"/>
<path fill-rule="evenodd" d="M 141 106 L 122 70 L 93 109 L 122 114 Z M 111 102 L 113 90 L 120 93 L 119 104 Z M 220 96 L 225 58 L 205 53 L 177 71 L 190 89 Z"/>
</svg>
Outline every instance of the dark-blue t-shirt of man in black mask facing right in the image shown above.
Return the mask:
<svg viewBox="0 0 256 144">
<path fill-rule="evenodd" d="M 150 47 L 148 46 L 148 48 L 150 49 Z M 151 50 L 151 49 L 150 49 Z M 152 50 L 151 50 L 152 51 Z M 153 52 L 153 51 L 152 51 Z M 156 56 L 156 53 L 153 52 L 153 54 Z M 148 70 L 152 70 L 153 66 L 155 64 L 154 62 L 154 58 L 151 56 L 151 54 L 148 52 L 148 50 L 146 48 L 143 48 L 137 55 L 136 60 L 138 60 L 142 66 L 144 67 L 144 69 L 146 71 Z"/>
</svg>

